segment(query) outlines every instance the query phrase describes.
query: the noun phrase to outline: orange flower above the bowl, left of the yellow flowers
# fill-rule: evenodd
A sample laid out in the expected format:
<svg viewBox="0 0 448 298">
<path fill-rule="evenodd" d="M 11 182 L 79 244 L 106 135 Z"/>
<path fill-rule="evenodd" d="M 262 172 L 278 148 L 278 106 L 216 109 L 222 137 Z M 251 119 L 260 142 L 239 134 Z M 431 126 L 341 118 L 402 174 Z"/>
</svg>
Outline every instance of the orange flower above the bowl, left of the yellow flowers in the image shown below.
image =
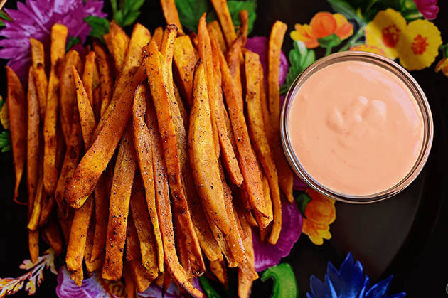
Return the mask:
<svg viewBox="0 0 448 298">
<path fill-rule="evenodd" d="M 316 48 L 319 46 L 318 38 L 324 38 L 336 34 L 338 38 L 346 39 L 353 34 L 353 25 L 348 22 L 342 14 L 330 14 L 329 12 L 319 12 L 309 25 L 297 23 L 291 32 L 294 41 L 302 41 L 306 48 Z"/>
</svg>

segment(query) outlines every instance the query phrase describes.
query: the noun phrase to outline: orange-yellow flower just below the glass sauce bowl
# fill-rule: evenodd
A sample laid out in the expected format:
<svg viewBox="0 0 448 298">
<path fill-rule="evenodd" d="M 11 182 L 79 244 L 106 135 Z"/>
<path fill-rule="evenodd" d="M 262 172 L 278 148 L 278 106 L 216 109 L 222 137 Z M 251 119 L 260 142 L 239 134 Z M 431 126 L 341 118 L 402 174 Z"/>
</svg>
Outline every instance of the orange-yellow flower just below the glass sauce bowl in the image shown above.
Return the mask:
<svg viewBox="0 0 448 298">
<path fill-rule="evenodd" d="M 330 224 L 336 219 L 334 199 L 323 196 L 311 188 L 306 190 L 311 201 L 306 205 L 302 232 L 308 235 L 312 243 L 321 245 L 324 239 L 330 239 Z"/>
</svg>

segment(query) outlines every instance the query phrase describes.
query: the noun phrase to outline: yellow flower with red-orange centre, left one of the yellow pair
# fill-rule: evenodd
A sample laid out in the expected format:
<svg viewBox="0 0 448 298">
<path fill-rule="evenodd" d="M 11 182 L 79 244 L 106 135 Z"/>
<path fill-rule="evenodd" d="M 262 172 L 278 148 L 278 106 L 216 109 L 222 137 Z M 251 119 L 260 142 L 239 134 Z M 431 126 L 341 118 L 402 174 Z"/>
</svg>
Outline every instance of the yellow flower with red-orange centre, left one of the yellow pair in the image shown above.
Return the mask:
<svg viewBox="0 0 448 298">
<path fill-rule="evenodd" d="M 384 50 L 390 59 L 398 57 L 398 43 L 406 28 L 405 18 L 393 9 L 379 11 L 366 26 L 366 44 Z"/>
</svg>

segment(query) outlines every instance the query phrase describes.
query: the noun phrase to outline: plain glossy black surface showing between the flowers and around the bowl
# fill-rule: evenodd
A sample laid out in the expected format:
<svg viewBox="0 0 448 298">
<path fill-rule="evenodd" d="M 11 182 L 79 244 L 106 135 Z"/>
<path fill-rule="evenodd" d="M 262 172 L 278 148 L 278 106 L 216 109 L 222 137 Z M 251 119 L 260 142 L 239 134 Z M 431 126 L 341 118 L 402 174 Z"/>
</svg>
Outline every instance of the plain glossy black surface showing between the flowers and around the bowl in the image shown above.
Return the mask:
<svg viewBox="0 0 448 298">
<path fill-rule="evenodd" d="M 16 7 L 15 1 L 6 6 Z M 309 23 L 318 11 L 331 11 L 325 0 L 259 0 L 257 21 L 252 35 L 267 36 L 275 19 L 294 23 Z M 105 1 L 108 6 L 109 1 Z M 448 1 L 439 1 L 440 12 L 434 21 L 442 40 L 448 41 Z M 107 7 L 106 11 L 110 11 Z M 139 22 L 150 29 L 164 24 L 159 1 L 148 0 L 142 9 Z M 284 52 L 292 47 L 289 37 L 284 41 Z M 319 52 L 318 52 L 319 53 Z M 434 117 L 434 144 L 430 159 L 419 178 L 400 195 L 387 201 L 364 206 L 336 203 L 336 221 L 331 225 L 333 238 L 324 245 L 313 245 L 306 235 L 299 238 L 291 255 L 285 259 L 294 267 L 299 283 L 300 297 L 309 290 L 309 277 L 321 280 L 326 272 L 326 262 L 339 266 L 348 251 L 361 260 L 372 282 L 394 275 L 393 292 L 407 292 L 408 297 L 446 297 L 448 283 L 448 206 L 447 130 L 448 78 L 434 73 L 431 68 L 412 75 L 422 86 L 430 102 Z M 2 71 L 0 94 L 6 95 L 6 79 Z M 14 169 L 11 153 L 0 154 L 0 277 L 16 277 L 23 274 L 18 265 L 28 257 L 26 233 L 26 208 L 12 203 Z M 24 191 L 24 190 L 22 190 Z M 44 248 L 41 248 L 43 252 Z M 58 260 L 58 265 L 62 260 Z M 230 278 L 230 288 L 235 281 Z M 37 297 L 55 296 L 55 276 L 46 274 L 46 280 L 38 287 Z M 252 297 L 267 297 L 272 284 L 255 282 Z M 230 292 L 235 294 L 235 289 Z M 19 292 L 18 296 L 26 296 Z"/>
</svg>

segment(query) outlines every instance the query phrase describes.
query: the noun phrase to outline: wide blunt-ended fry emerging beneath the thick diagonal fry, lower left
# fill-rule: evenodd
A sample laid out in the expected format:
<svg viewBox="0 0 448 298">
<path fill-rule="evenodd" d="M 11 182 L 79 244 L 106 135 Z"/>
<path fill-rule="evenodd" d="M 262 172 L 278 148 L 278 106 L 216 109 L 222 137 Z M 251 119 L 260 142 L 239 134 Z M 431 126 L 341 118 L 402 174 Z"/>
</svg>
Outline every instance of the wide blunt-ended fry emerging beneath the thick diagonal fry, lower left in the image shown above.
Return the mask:
<svg viewBox="0 0 448 298">
<path fill-rule="evenodd" d="M 123 249 L 126 240 L 127 218 L 137 157 L 134 153 L 131 129 L 124 132 L 120 142 L 114 179 L 110 191 L 109 223 L 107 224 L 106 257 L 102 278 L 119 280 L 123 270 Z"/>
</svg>

